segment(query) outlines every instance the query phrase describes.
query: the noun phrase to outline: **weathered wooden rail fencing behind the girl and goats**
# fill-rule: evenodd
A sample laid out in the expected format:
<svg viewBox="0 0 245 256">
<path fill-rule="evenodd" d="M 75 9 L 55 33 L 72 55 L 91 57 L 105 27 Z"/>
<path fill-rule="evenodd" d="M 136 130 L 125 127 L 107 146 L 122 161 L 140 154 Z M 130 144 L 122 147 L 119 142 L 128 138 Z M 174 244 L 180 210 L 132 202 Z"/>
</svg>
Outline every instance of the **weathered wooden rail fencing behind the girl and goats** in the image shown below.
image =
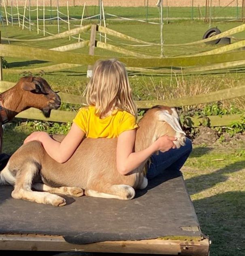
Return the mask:
<svg viewBox="0 0 245 256">
<path fill-rule="evenodd" d="M 100 27 L 97 25 L 87 25 L 79 28 L 75 28 L 73 30 L 69 30 L 54 36 L 43 37 L 38 39 L 9 39 L 12 41 L 44 41 L 44 40 L 53 40 L 64 37 L 69 37 L 74 34 L 79 34 L 91 29 L 91 37 L 90 41 L 83 41 L 78 43 L 73 43 L 69 45 L 64 45 L 61 47 L 56 47 L 53 49 L 43 49 L 43 48 L 35 48 L 35 47 L 26 47 L 19 45 L 7 45 L 0 44 L 0 56 L 10 56 L 10 57 L 23 57 L 23 52 L 25 53 L 25 58 L 32 60 L 47 60 L 51 62 L 55 62 L 53 65 L 49 65 L 46 67 L 41 67 L 39 69 L 47 70 L 48 72 L 62 70 L 66 68 L 78 67 L 81 65 L 93 65 L 94 62 L 100 58 L 111 58 L 110 56 L 96 56 L 93 55 L 94 51 L 92 47 L 102 47 L 104 49 L 109 49 L 114 52 L 121 52 L 126 55 L 134 56 L 136 58 L 127 58 L 121 57 L 118 58 L 122 62 L 126 64 L 127 69 L 143 69 L 143 71 L 153 71 L 150 69 L 151 67 L 188 67 L 188 66 L 197 66 L 192 67 L 192 69 L 202 69 L 200 65 L 206 65 L 207 67 L 214 67 L 215 69 L 219 69 L 220 67 L 229 67 L 229 65 L 242 65 L 245 59 L 245 51 L 237 51 L 237 52 L 228 52 L 230 49 L 236 49 L 236 47 L 240 47 L 244 44 L 243 41 L 240 41 L 239 45 L 235 45 L 232 48 L 228 45 L 226 48 L 220 47 L 220 50 L 217 52 L 208 52 L 207 54 L 202 54 L 201 56 L 181 56 L 181 57 L 173 57 L 173 58 L 158 58 L 156 56 L 146 56 L 145 54 L 139 56 L 138 53 L 133 51 L 128 51 L 127 49 L 121 47 L 115 47 L 113 45 L 108 45 L 106 43 L 97 42 L 96 41 L 96 31 L 104 34 L 110 34 L 113 37 L 119 37 L 124 40 L 130 40 L 137 43 L 146 44 L 147 42 L 141 41 L 138 39 L 134 39 L 127 35 L 121 34 L 117 31 L 110 30 L 108 28 Z M 206 41 L 211 41 L 213 39 L 221 38 L 230 34 L 234 34 L 237 32 L 241 32 L 245 30 L 245 25 L 238 26 L 236 28 L 232 28 L 222 34 L 218 34 L 217 36 L 212 37 L 212 39 L 204 39 L 201 41 L 196 41 L 190 44 L 198 44 Z M 4 40 L 6 40 L 4 38 Z M 158 45 L 156 43 L 152 43 L 153 45 Z M 89 45 L 89 54 L 77 54 L 70 51 L 72 49 L 78 49 L 81 47 L 85 47 Z M 141 57 L 141 58 L 140 58 Z M 232 67 L 233 67 L 232 66 Z M 145 69 L 146 67 L 146 69 Z M 169 72 L 169 69 L 164 69 L 164 72 Z M 191 70 L 191 69 L 190 69 Z M 212 68 L 211 68 L 212 70 Z M 4 70 L 4 73 L 21 73 L 23 71 L 38 71 L 38 68 L 35 69 L 7 69 Z M 163 72 L 160 70 L 158 72 Z M 0 92 L 7 90 L 12 87 L 14 83 L 0 81 Z M 203 103 L 210 103 L 215 101 L 222 101 L 225 99 L 232 99 L 236 97 L 245 96 L 245 86 L 238 86 L 235 88 L 228 88 L 224 90 L 219 90 L 216 92 L 211 92 L 203 95 L 196 95 L 193 97 L 183 97 L 181 99 L 167 99 L 164 101 L 153 100 L 153 101 L 136 101 L 136 106 L 138 109 L 148 109 L 154 105 L 168 105 L 174 107 L 181 107 L 185 105 L 197 105 Z M 66 93 L 60 93 L 60 97 L 63 103 L 71 103 L 71 104 L 79 104 L 85 103 L 85 99 L 78 95 L 70 95 Z M 62 111 L 62 110 L 52 110 L 50 118 L 45 118 L 43 114 L 36 109 L 29 109 L 21 112 L 17 115 L 19 118 L 28 118 L 28 119 L 38 119 L 38 120 L 50 120 L 55 122 L 72 122 L 75 117 L 75 112 L 70 111 Z M 241 114 L 234 115 L 223 115 L 223 116 L 208 116 L 205 120 L 205 123 L 208 120 L 210 126 L 227 126 L 230 125 L 231 122 L 237 122 L 241 120 Z M 187 127 L 198 127 L 203 122 L 203 118 L 198 116 L 196 117 L 187 117 L 185 121 L 185 125 Z"/>
</svg>

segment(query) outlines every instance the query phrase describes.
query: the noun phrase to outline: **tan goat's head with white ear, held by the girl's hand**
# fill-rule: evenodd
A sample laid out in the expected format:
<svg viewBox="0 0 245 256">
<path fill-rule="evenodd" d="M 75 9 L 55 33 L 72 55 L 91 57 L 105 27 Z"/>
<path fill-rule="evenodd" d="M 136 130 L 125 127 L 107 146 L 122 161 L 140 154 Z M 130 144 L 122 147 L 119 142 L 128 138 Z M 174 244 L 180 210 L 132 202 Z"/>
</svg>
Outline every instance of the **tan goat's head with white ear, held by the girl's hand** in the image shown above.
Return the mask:
<svg viewBox="0 0 245 256">
<path fill-rule="evenodd" d="M 153 130 L 152 142 L 160 136 L 168 135 L 177 137 L 174 141 L 177 148 L 185 145 L 185 132 L 180 126 L 179 114 L 175 108 L 157 105 L 147 111 L 139 126 L 141 122 L 145 122 L 145 126 Z"/>
</svg>

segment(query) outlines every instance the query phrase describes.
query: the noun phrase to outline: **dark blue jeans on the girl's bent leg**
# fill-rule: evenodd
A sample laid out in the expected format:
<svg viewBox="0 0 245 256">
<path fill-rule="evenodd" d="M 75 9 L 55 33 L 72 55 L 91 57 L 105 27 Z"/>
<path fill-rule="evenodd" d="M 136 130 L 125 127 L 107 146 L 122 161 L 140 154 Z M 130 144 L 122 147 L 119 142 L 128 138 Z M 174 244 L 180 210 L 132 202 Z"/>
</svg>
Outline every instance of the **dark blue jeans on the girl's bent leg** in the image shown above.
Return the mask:
<svg viewBox="0 0 245 256">
<path fill-rule="evenodd" d="M 171 172 L 179 172 L 191 152 L 192 142 L 186 138 L 185 146 L 172 148 L 164 153 L 159 152 L 158 155 L 152 155 L 151 163 L 146 174 L 147 179 L 153 179 L 158 174 L 163 174 L 168 170 Z"/>
</svg>

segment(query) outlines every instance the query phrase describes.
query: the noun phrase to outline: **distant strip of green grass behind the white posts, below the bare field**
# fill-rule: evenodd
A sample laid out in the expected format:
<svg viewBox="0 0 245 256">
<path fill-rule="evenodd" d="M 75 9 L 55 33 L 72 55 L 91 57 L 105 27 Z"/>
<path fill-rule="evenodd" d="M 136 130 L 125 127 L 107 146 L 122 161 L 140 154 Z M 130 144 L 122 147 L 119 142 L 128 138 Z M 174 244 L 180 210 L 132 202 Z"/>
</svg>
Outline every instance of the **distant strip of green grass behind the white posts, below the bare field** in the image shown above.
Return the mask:
<svg viewBox="0 0 245 256">
<path fill-rule="evenodd" d="M 31 6 L 31 10 L 36 9 L 36 6 Z M 39 6 L 38 11 L 38 18 L 42 19 L 43 18 L 43 6 Z M 52 7 L 52 11 L 50 10 L 50 6 L 45 7 L 45 18 L 50 18 L 50 17 L 56 17 L 57 16 L 57 11 L 56 7 Z M 64 6 L 59 7 L 59 11 L 63 13 L 64 15 L 60 14 L 60 17 L 64 18 L 67 15 L 67 8 Z M 193 11 L 193 17 L 194 18 L 199 18 L 199 17 L 204 17 L 205 16 L 205 6 L 200 6 L 200 14 L 198 11 L 198 7 L 168 7 L 168 11 L 166 6 L 163 7 L 163 17 L 166 18 L 167 15 L 169 18 L 189 18 L 192 19 L 192 11 Z M 7 8 L 7 12 L 11 13 L 11 7 Z M 24 8 L 19 7 L 19 13 L 23 15 Z M 70 17 L 74 17 L 77 19 L 81 19 L 81 15 L 83 12 L 83 6 L 69 6 L 69 15 Z M 113 15 L 117 15 L 119 17 L 127 17 L 131 19 L 159 19 L 159 10 L 157 7 L 148 7 L 148 16 L 147 16 L 147 7 L 112 7 L 112 6 L 104 6 L 104 12 L 105 13 L 110 13 Z M 13 7 L 13 13 L 17 13 L 17 8 Z M 239 7 L 238 9 L 236 7 L 219 7 L 215 6 L 211 10 L 212 17 L 215 18 L 220 18 L 222 17 L 223 19 L 230 19 L 230 17 L 240 17 L 241 18 L 241 13 L 242 13 L 242 8 Z M 99 8 L 98 6 L 87 6 L 85 9 L 84 16 L 92 16 L 92 15 L 97 15 L 99 14 Z M 31 11 L 30 13 L 31 19 L 36 20 L 37 14 L 36 11 Z M 209 14 L 210 15 L 210 12 Z M 2 7 L 2 16 L 5 17 L 5 12 L 4 8 Z M 17 17 L 15 15 L 14 17 Z M 29 11 L 26 10 L 26 17 L 29 17 Z M 109 18 L 109 16 L 106 16 L 106 18 Z"/>
</svg>

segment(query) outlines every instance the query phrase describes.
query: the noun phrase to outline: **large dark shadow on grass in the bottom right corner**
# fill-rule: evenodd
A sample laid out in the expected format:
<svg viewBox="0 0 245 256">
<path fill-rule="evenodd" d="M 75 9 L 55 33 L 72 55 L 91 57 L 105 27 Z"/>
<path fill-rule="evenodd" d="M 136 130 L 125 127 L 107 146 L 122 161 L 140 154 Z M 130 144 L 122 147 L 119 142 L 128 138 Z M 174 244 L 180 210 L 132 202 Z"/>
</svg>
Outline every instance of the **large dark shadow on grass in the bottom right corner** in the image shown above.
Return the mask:
<svg viewBox="0 0 245 256">
<path fill-rule="evenodd" d="M 209 235 L 211 256 L 245 255 L 245 191 L 193 202 L 201 230 Z"/>
</svg>

